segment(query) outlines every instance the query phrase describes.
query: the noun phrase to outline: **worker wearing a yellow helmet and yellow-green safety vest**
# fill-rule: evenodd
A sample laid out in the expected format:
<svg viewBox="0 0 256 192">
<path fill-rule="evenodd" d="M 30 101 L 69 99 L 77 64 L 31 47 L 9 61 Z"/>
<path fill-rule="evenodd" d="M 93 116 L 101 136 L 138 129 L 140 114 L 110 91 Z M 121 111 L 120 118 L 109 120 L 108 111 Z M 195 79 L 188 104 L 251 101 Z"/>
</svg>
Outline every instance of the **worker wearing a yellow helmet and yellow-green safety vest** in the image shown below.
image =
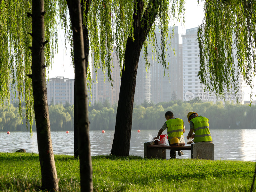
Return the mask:
<svg viewBox="0 0 256 192">
<path fill-rule="evenodd" d="M 209 130 L 209 119 L 198 116 L 196 112 L 188 113 L 188 122 L 190 125 L 187 139 L 194 138 L 194 142 L 212 142 L 212 136 Z M 193 134 L 193 132 L 195 134 Z"/>
</svg>

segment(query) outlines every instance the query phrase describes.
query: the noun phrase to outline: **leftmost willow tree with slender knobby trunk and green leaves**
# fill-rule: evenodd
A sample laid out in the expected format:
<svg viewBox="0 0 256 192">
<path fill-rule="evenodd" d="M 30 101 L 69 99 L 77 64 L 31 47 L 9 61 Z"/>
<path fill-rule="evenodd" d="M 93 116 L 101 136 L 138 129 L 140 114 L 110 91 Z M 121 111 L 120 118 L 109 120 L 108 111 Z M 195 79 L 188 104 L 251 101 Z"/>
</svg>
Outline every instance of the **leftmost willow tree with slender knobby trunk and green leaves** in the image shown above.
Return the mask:
<svg viewBox="0 0 256 192">
<path fill-rule="evenodd" d="M 20 118 L 23 118 L 21 102 L 24 100 L 30 131 L 35 106 L 42 188 L 58 190 L 45 87 L 45 68 L 51 64 L 57 43 L 55 1 L 47 1 L 45 11 L 44 20 L 43 1 L 33 1 L 32 4 L 23 0 L 0 1 L 0 98 L 2 105 L 9 103 L 9 83 L 12 79 L 12 89 L 18 90 Z M 50 42 L 48 44 L 44 41 L 44 30 L 45 38 Z M 33 81 L 34 96 L 29 77 Z"/>
</svg>

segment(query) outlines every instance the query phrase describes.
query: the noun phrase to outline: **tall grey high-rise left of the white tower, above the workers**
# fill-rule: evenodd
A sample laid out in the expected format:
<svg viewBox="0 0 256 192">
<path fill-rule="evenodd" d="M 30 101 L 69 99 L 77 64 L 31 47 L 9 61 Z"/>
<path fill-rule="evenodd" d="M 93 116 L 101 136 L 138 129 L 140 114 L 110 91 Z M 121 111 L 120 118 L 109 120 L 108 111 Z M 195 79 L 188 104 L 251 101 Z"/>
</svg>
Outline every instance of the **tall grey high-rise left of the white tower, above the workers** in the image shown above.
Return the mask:
<svg viewBox="0 0 256 192">
<path fill-rule="evenodd" d="M 169 64 L 169 77 L 167 69 L 156 59 L 151 62 L 151 100 L 154 103 L 170 101 L 181 98 L 182 65 L 179 65 L 179 33 L 178 27 L 168 27 L 169 39 L 167 46 L 166 63 Z M 173 32 L 173 36 L 172 36 Z M 160 29 L 156 28 L 156 41 L 161 46 Z M 171 47 L 169 46 L 171 45 Z M 174 54 L 175 51 L 175 54 Z M 161 52 L 160 52 L 161 54 Z M 153 56 L 153 58 L 155 58 Z"/>
</svg>

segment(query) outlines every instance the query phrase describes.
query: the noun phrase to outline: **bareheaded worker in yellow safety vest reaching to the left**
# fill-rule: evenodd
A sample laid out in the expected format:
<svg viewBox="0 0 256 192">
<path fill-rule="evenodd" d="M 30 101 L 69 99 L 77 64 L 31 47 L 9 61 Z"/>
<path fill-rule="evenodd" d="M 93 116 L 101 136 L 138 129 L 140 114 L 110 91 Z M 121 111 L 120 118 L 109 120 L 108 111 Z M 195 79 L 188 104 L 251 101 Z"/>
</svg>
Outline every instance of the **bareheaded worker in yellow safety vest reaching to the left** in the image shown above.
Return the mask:
<svg viewBox="0 0 256 192">
<path fill-rule="evenodd" d="M 159 136 L 167 128 L 168 142 L 170 145 L 170 144 L 172 144 L 171 143 L 172 138 L 176 137 L 176 138 L 180 139 L 180 137 L 185 132 L 185 125 L 184 125 L 184 122 L 182 119 L 175 118 L 173 116 L 172 111 L 167 111 L 164 116 L 165 116 L 166 122 L 164 123 L 163 127 L 159 130 L 159 132 L 158 132 L 157 136 L 154 138 L 154 140 L 159 139 Z M 178 155 L 179 156 L 183 155 L 183 152 L 181 150 L 178 150 Z M 171 150 L 170 157 L 176 158 L 176 149 Z"/>
</svg>

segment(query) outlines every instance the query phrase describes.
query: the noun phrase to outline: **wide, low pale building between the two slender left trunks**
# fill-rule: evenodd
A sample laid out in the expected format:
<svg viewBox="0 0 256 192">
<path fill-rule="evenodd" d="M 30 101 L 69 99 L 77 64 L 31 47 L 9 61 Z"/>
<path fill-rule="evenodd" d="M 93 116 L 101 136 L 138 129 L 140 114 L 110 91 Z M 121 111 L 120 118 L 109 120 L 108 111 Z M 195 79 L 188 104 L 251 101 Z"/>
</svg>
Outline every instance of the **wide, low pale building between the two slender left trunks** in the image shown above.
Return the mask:
<svg viewBox="0 0 256 192">
<path fill-rule="evenodd" d="M 56 77 L 46 80 L 48 105 L 74 104 L 74 79 Z"/>
</svg>

